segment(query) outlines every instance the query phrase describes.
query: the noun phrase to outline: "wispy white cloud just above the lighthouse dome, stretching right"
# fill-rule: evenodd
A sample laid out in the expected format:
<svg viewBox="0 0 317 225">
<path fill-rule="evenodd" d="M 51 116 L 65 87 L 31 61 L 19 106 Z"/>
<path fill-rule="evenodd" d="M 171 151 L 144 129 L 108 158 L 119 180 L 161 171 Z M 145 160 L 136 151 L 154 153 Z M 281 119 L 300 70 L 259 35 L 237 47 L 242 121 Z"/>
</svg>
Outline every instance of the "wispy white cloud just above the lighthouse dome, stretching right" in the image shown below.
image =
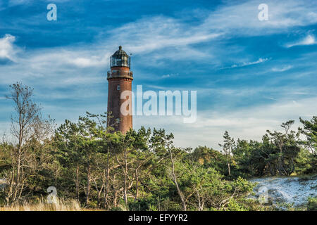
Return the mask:
<svg viewBox="0 0 317 225">
<path fill-rule="evenodd" d="M 216 39 L 222 33 L 201 30 L 200 27 L 189 26 L 174 18 L 157 16 L 128 23 L 111 31 L 110 34 L 117 45 L 123 45 L 127 51 L 134 54 L 152 51 L 155 53 L 160 49 L 173 48 L 166 54 L 163 53 L 163 56 L 176 59 L 201 56 L 203 53 L 199 54 L 190 45 Z"/>
</svg>

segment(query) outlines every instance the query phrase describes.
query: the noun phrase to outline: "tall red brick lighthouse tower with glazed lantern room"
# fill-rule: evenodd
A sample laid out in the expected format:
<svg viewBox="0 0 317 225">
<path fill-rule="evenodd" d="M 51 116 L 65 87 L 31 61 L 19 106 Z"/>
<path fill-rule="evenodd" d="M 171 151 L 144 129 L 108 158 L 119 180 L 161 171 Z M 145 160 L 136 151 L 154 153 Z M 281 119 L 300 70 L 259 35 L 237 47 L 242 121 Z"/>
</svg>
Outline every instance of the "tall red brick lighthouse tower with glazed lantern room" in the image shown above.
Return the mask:
<svg viewBox="0 0 317 225">
<path fill-rule="evenodd" d="M 124 108 L 125 112 L 121 112 L 121 105 L 127 101 L 127 99 L 121 99 L 123 91 L 132 90 L 133 73 L 130 71 L 130 56 L 128 56 L 122 47 L 119 46 L 119 50 L 116 51 L 110 58 L 110 68 L 108 71 L 108 113 L 111 113 L 112 118 L 108 120 L 108 125 L 112 126 L 115 131 L 121 131 L 125 134 L 130 128 L 132 128 L 132 105 L 128 105 L 131 108 Z M 127 94 L 123 96 L 127 96 Z M 131 95 L 127 98 L 131 99 Z"/>
</svg>

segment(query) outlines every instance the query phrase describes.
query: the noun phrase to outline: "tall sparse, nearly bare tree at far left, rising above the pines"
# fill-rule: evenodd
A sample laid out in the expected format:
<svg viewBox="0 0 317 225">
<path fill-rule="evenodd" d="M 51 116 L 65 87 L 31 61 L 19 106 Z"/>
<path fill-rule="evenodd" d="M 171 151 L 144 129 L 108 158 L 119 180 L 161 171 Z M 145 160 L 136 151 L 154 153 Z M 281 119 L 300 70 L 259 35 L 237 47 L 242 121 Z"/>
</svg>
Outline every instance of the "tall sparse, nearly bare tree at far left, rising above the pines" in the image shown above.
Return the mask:
<svg viewBox="0 0 317 225">
<path fill-rule="evenodd" d="M 22 197 L 29 178 L 25 169 L 30 169 L 31 162 L 28 160 L 34 159 L 32 144 L 48 138 L 54 123 L 50 118 L 42 119 L 41 108 L 32 101 L 33 89 L 20 83 L 10 85 L 10 88 L 11 95 L 6 98 L 12 100 L 15 105 L 15 113 L 11 116 L 11 134 L 15 137 L 15 143 L 11 148 L 12 169 L 6 177 L 7 204 L 14 203 Z"/>
</svg>

